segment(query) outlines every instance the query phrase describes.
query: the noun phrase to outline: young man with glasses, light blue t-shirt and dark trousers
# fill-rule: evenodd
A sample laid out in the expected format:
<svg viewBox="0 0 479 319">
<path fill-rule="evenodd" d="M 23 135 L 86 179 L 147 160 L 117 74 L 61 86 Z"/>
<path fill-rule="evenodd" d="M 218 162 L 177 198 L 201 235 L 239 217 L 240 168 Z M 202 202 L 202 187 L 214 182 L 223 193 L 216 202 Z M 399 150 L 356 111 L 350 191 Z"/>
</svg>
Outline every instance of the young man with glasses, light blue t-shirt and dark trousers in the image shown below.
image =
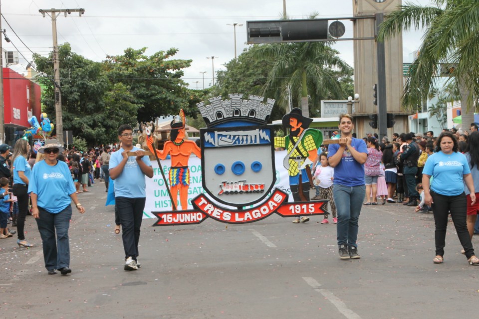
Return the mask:
<svg viewBox="0 0 479 319">
<path fill-rule="evenodd" d="M 137 270 L 138 242 L 146 201 L 145 175 L 153 177 L 153 167 L 145 152 L 133 146 L 133 129 L 129 125 L 121 125 L 118 138 L 122 148 L 111 155 L 109 172 L 115 180 L 115 203 L 123 229 L 123 248 L 125 250 L 124 269 Z M 129 157 L 134 152 L 136 157 Z"/>
</svg>

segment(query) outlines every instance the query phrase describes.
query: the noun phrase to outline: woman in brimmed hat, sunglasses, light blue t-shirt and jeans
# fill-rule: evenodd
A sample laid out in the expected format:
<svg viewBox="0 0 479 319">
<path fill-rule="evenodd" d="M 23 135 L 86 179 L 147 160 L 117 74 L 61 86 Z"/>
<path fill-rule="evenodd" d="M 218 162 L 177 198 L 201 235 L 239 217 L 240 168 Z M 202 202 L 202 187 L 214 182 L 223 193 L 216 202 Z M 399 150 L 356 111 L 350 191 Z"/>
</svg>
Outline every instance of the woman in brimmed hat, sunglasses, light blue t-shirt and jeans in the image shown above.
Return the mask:
<svg viewBox="0 0 479 319">
<path fill-rule="evenodd" d="M 59 270 L 62 275 L 71 273 L 68 229 L 72 214 L 71 201 L 78 212 L 85 209 L 78 202 L 70 169 L 64 161 L 57 160 L 63 146 L 56 140 L 47 140 L 38 150 L 44 160 L 33 166 L 28 184 L 32 216 L 36 218 L 43 244 L 43 259 L 49 275 Z"/>
</svg>

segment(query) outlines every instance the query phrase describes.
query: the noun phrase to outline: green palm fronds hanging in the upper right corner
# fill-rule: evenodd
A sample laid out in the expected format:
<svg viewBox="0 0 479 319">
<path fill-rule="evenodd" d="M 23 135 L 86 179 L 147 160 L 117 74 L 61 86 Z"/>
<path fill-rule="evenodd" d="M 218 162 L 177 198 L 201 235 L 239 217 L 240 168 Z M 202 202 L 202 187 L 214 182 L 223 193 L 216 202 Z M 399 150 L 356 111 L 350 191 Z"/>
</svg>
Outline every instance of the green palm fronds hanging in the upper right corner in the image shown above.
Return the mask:
<svg viewBox="0 0 479 319">
<path fill-rule="evenodd" d="M 437 86 L 439 73 L 448 73 L 448 85 L 461 96 L 463 123 L 469 125 L 474 122 L 479 98 L 479 1 L 434 2 L 430 6 L 399 6 L 381 24 L 378 40 L 425 27 L 420 53 L 404 88 L 403 107 L 415 110 Z"/>
</svg>

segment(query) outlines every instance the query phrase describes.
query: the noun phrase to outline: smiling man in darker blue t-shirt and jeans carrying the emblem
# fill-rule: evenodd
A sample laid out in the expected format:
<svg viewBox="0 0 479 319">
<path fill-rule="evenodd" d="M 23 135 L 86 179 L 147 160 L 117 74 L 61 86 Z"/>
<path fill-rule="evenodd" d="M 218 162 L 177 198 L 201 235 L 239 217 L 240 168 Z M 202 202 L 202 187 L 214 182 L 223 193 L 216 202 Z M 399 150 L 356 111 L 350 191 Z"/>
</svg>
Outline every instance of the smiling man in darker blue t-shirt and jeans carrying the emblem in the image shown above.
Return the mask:
<svg viewBox="0 0 479 319">
<path fill-rule="evenodd" d="M 364 163 L 368 158 L 366 143 L 352 137 L 353 118 L 349 114 L 339 116 L 341 138 L 339 144 L 328 148 L 329 165 L 334 167 L 333 195 L 338 223 L 337 240 L 339 258 L 359 259 L 359 214 L 366 194 Z"/>
</svg>

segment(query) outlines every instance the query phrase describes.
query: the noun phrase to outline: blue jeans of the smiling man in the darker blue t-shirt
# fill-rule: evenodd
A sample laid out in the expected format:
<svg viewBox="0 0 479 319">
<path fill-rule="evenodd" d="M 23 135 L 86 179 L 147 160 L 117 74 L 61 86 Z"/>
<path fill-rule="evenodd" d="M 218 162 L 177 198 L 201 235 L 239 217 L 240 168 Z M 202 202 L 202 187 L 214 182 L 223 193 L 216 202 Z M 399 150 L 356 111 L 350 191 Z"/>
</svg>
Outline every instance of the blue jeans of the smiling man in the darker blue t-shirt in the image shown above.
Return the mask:
<svg viewBox="0 0 479 319">
<path fill-rule="evenodd" d="M 359 214 L 363 206 L 366 186 L 333 185 L 334 202 L 338 216 L 338 245 L 358 247 Z"/>
</svg>

